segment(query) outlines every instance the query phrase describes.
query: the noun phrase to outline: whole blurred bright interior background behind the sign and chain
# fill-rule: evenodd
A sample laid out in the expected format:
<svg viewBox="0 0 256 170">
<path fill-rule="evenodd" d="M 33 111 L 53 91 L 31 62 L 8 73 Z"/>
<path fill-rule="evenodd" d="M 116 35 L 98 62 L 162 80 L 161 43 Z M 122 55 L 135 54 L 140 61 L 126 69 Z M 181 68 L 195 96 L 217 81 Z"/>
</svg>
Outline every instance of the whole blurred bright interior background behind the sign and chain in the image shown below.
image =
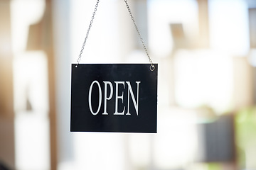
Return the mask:
<svg viewBox="0 0 256 170">
<path fill-rule="evenodd" d="M 256 1 L 128 0 L 159 63 L 158 133 L 70 132 L 96 0 L 0 0 L 0 169 L 255 170 Z M 122 0 L 80 63 L 149 63 Z"/>
</svg>

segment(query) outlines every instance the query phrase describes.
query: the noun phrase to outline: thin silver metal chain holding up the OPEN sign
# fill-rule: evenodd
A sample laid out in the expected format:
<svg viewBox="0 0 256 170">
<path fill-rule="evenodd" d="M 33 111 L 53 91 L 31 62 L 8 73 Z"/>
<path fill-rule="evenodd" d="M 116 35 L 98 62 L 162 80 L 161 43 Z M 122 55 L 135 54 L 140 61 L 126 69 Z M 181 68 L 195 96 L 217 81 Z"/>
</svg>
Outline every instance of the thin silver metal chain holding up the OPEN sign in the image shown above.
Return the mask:
<svg viewBox="0 0 256 170">
<path fill-rule="evenodd" d="M 96 5 L 95 5 L 95 9 L 94 9 L 94 11 L 93 11 L 93 13 L 92 13 L 92 18 L 91 18 L 91 21 L 90 21 L 90 24 L 89 24 L 89 28 L 87 29 L 87 33 L 86 33 L 86 35 L 85 35 L 85 40 L 84 40 L 84 42 L 82 43 L 82 49 L 80 50 L 80 55 L 78 56 L 77 64 L 75 65 L 76 68 L 78 67 L 78 64 L 79 64 L 79 62 L 80 62 L 80 60 L 81 60 L 82 52 L 83 52 L 83 50 L 85 49 L 85 44 L 86 44 L 86 42 L 87 42 L 87 38 L 88 38 L 88 35 L 89 35 L 89 33 L 90 33 L 90 29 L 92 28 L 92 23 L 93 23 L 93 20 L 95 19 L 95 14 L 96 14 L 96 11 L 97 11 L 97 7 L 99 6 L 99 3 L 100 3 L 100 0 L 97 0 L 97 3 L 96 3 Z M 149 58 L 149 62 L 150 62 L 150 67 L 149 67 L 149 69 L 153 72 L 154 69 L 155 69 L 155 66 L 154 66 L 154 64 L 153 64 L 153 62 L 152 62 L 152 60 L 151 60 L 151 57 L 149 56 L 149 52 L 148 52 L 148 50 L 147 50 L 147 48 L 146 48 L 145 42 L 144 42 L 144 40 L 143 40 L 143 38 L 142 38 L 142 35 L 141 35 L 141 33 L 139 32 L 139 28 L 137 27 L 137 24 L 136 24 L 136 22 L 135 22 L 134 16 L 132 15 L 132 11 L 131 11 L 131 9 L 129 8 L 129 4 L 128 4 L 127 0 L 124 0 L 124 3 L 125 3 L 126 6 L 127 6 L 127 10 L 128 10 L 128 12 L 129 12 L 129 16 L 131 16 L 132 22 L 134 23 L 134 27 L 135 27 L 135 29 L 137 30 L 137 33 L 138 33 L 138 35 L 139 35 L 139 39 L 140 39 L 140 41 L 142 42 L 144 51 L 146 52 L 146 56 Z"/>
</svg>

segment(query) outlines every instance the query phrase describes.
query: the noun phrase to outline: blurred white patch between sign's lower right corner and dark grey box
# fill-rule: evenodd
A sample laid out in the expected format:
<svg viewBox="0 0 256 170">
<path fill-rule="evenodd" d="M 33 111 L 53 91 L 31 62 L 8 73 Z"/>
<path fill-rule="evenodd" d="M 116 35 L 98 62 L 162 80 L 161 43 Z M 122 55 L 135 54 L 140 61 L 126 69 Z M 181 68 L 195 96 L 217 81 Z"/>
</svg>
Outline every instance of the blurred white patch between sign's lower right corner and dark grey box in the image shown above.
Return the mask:
<svg viewBox="0 0 256 170">
<path fill-rule="evenodd" d="M 196 159 L 196 114 L 162 108 L 154 138 L 154 162 L 159 169 L 181 169 Z"/>
</svg>

